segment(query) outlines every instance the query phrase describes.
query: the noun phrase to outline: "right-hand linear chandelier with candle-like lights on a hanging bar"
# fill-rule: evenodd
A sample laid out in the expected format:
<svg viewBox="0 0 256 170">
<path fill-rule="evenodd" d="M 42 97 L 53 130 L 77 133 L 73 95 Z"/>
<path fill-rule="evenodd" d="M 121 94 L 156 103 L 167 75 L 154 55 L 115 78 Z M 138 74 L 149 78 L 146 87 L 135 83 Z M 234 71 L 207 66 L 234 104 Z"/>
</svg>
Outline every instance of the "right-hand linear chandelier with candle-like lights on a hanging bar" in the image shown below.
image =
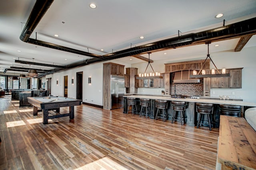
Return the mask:
<svg viewBox="0 0 256 170">
<path fill-rule="evenodd" d="M 212 59 L 211 59 L 211 57 L 210 57 L 210 54 L 209 54 L 209 44 L 210 44 L 210 43 L 211 43 L 211 42 L 206 42 L 206 43 L 205 43 L 205 44 L 208 45 L 208 54 L 207 54 L 207 57 L 206 57 L 206 59 L 205 59 L 203 65 L 202 65 L 202 67 L 200 68 L 200 70 L 199 70 L 198 73 L 196 73 L 196 70 L 193 70 L 193 75 L 190 75 L 190 76 L 189 76 L 190 78 L 211 78 L 211 77 L 214 78 L 214 77 L 229 77 L 229 76 L 230 76 L 229 73 L 226 73 L 226 68 L 222 68 L 222 73 L 220 73 L 220 71 L 218 70 L 218 68 L 216 67 L 216 65 L 214 64 L 214 62 L 212 61 Z M 216 68 L 218 74 L 215 74 L 215 70 L 214 70 L 214 69 L 211 70 L 211 73 L 212 73 L 212 74 L 205 74 L 206 71 L 203 70 L 203 68 L 204 68 L 204 64 L 205 64 L 206 60 L 208 59 L 208 57 L 209 57 L 209 59 L 212 61 L 212 64 L 215 66 L 215 68 Z M 202 74 L 200 74 L 201 71 L 202 71 Z"/>
</svg>

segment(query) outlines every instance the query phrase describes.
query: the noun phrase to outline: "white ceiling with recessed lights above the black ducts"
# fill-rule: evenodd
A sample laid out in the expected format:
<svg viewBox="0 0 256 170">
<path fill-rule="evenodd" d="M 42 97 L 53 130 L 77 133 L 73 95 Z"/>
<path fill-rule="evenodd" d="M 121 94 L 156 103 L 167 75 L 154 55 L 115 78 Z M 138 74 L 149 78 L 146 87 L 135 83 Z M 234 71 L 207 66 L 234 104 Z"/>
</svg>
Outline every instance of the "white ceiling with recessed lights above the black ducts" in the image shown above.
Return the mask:
<svg viewBox="0 0 256 170">
<path fill-rule="evenodd" d="M 0 74 L 10 66 L 29 67 L 26 64 L 14 63 L 15 59 L 32 61 L 34 58 L 36 63 L 66 65 L 88 58 L 24 43 L 19 39 L 35 2 L 36 0 L 1 0 Z M 91 2 L 96 4 L 95 9 L 89 7 Z M 214 18 L 219 13 L 224 16 Z M 228 25 L 254 17 L 255 0 L 54 0 L 30 37 L 105 55 L 131 46 L 177 37 L 178 30 L 182 32 L 180 34 L 185 35 L 220 27 L 223 20 L 225 25 Z M 54 37 L 54 34 L 59 37 Z M 145 38 L 140 39 L 140 36 Z M 256 46 L 255 36 L 245 47 Z M 219 47 L 212 48 L 211 52 L 234 50 L 238 41 L 239 39 L 231 39 L 216 42 Z M 164 55 L 164 52 L 167 54 Z M 159 60 L 206 52 L 205 45 L 196 45 L 152 53 L 150 59 Z M 147 54 L 143 56 L 148 57 Z M 125 63 L 144 62 L 134 57 L 118 60 Z M 44 66 L 35 67 L 51 69 Z M 10 72 L 12 71 L 8 71 Z"/>
</svg>

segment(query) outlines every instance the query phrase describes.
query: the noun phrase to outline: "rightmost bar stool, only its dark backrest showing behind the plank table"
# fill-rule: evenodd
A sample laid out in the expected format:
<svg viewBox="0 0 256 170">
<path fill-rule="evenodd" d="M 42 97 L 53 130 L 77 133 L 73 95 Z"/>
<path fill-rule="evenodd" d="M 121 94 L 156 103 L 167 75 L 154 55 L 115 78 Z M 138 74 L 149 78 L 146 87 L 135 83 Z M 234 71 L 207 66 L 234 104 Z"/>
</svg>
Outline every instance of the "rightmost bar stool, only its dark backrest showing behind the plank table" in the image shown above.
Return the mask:
<svg viewBox="0 0 256 170">
<path fill-rule="evenodd" d="M 220 104 L 220 114 L 241 117 L 241 106 Z"/>
</svg>

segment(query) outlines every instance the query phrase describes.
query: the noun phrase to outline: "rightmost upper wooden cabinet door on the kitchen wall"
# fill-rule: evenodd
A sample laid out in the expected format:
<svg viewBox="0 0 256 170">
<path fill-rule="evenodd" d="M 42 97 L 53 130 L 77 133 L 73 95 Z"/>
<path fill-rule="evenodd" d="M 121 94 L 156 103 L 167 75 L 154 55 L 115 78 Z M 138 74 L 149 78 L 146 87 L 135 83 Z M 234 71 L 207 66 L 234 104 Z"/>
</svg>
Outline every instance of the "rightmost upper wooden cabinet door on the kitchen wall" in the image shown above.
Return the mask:
<svg viewBox="0 0 256 170">
<path fill-rule="evenodd" d="M 242 88 L 242 68 L 230 70 L 230 88 Z"/>
</svg>

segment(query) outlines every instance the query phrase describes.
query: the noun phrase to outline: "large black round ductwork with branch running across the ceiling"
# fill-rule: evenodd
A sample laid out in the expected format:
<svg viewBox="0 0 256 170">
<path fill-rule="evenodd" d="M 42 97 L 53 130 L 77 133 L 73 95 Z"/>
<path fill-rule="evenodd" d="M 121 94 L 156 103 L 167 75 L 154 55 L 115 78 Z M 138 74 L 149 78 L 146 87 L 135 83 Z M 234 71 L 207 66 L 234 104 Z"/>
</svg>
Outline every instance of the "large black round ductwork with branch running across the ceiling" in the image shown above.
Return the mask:
<svg viewBox="0 0 256 170">
<path fill-rule="evenodd" d="M 60 45 L 55 45 L 52 43 L 47 43 L 44 41 L 36 40 L 36 39 L 31 39 L 29 36 L 31 35 L 32 31 L 34 31 L 36 25 L 39 23 L 39 21 L 42 19 L 44 16 L 45 12 L 48 10 L 50 5 L 52 4 L 53 0 L 47 0 L 46 2 L 41 2 L 41 0 L 37 0 L 35 3 L 35 6 L 30 13 L 30 16 L 28 18 L 28 21 L 22 31 L 22 34 L 20 35 L 20 39 L 24 42 L 52 48 L 52 49 L 58 49 L 61 51 L 67 51 L 70 53 L 76 53 L 80 55 L 86 55 L 89 57 L 94 57 L 91 59 L 88 59 L 86 61 L 78 61 L 76 63 L 72 63 L 69 66 L 66 66 L 66 68 L 61 68 L 61 69 L 53 69 L 50 72 L 46 73 L 47 74 L 52 74 L 53 72 L 59 72 L 64 69 L 68 68 L 74 68 L 78 66 L 84 66 L 87 64 L 92 64 L 100 61 L 108 61 L 112 59 L 118 59 L 122 57 L 128 57 L 132 55 L 138 55 L 142 53 L 147 53 L 149 51 L 160 51 L 160 50 L 165 50 L 165 49 L 171 49 L 171 48 L 177 48 L 177 47 L 184 47 L 188 45 L 198 45 L 198 44 L 203 44 L 207 41 L 222 41 L 225 39 L 232 39 L 232 38 L 238 38 L 242 37 L 244 35 L 254 35 L 256 34 L 256 18 L 252 18 L 249 20 L 244 20 L 240 21 L 237 23 L 233 23 L 230 25 L 218 27 L 215 29 L 209 29 L 206 31 L 201 31 L 198 33 L 190 33 L 187 35 L 182 35 L 179 37 L 173 37 L 170 39 L 165 39 L 161 41 L 156 41 L 153 43 L 148 43 L 145 45 L 139 45 L 137 47 L 132 47 L 129 49 L 124 49 L 121 51 L 117 51 L 114 53 L 106 54 L 103 56 L 88 53 L 85 51 L 80 51 L 77 49 L 71 49 L 68 47 L 63 47 Z M 28 34 L 28 32 L 30 32 Z"/>
</svg>

